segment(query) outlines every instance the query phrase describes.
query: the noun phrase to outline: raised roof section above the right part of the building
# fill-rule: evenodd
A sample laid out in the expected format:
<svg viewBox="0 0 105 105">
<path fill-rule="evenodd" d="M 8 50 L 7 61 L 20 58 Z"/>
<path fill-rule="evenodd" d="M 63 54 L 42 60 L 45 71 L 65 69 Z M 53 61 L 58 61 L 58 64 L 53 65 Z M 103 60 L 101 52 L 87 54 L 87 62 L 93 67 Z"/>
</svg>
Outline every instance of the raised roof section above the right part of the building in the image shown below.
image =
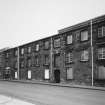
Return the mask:
<svg viewBox="0 0 105 105">
<path fill-rule="evenodd" d="M 76 30 L 78 28 L 82 28 L 82 27 L 88 26 L 90 24 L 91 20 L 92 20 L 92 24 L 99 23 L 99 22 L 105 20 L 105 15 L 101 15 L 101 16 L 92 18 L 90 20 L 84 21 L 82 23 L 79 23 L 79 24 L 76 24 L 76 25 L 73 25 L 73 26 L 70 26 L 70 27 L 66 27 L 66 28 L 60 29 L 60 30 L 58 30 L 58 33 L 62 34 L 62 33 L 68 32 L 68 31 L 72 31 L 72 30 Z"/>
</svg>

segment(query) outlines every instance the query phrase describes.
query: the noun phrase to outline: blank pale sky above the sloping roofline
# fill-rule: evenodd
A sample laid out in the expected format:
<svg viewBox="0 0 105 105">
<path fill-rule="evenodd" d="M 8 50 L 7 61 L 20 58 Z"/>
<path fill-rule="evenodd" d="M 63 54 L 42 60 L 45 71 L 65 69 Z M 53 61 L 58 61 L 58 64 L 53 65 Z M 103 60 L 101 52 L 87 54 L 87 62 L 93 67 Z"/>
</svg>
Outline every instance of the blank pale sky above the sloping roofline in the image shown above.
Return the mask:
<svg viewBox="0 0 105 105">
<path fill-rule="evenodd" d="M 0 49 L 105 14 L 105 0 L 0 0 Z"/>
</svg>

